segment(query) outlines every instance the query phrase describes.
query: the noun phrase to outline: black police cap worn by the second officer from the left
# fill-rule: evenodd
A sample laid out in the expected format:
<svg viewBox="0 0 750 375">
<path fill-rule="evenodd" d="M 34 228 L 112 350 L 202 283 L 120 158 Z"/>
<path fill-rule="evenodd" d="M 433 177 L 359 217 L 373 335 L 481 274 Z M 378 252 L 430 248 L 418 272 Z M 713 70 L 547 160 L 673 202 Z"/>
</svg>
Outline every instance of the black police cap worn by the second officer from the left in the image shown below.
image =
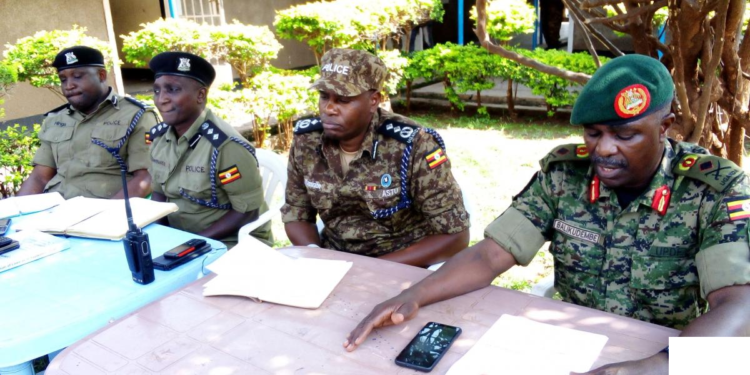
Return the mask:
<svg viewBox="0 0 750 375">
<path fill-rule="evenodd" d="M 162 52 L 148 63 L 148 67 L 155 73 L 155 78 L 161 76 L 180 76 L 192 78 L 203 86 L 211 86 L 216 78 L 216 70 L 211 63 L 200 56 L 187 52 Z"/>
</svg>

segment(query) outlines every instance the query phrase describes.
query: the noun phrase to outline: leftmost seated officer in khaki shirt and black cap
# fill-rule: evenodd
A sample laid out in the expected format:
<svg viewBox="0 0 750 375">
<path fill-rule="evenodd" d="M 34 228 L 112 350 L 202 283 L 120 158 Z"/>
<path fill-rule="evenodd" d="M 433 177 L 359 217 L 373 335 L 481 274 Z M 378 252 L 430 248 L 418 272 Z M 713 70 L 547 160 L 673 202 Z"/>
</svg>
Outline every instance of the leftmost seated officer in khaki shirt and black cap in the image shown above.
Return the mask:
<svg viewBox="0 0 750 375">
<path fill-rule="evenodd" d="M 52 66 L 68 103 L 46 114 L 34 169 L 18 195 L 122 198 L 121 168 L 128 172 L 130 196 L 148 195 L 151 163 L 145 135 L 158 122 L 153 108 L 112 90 L 96 49 L 66 48 Z"/>
</svg>

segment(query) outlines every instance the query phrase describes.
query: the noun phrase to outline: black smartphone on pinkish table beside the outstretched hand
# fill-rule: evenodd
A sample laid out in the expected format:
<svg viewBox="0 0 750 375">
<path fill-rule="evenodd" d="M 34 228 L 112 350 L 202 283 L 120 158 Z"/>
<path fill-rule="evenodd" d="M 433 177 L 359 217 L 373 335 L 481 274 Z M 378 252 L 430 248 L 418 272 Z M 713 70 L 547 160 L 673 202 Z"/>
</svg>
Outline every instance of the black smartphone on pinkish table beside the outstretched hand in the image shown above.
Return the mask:
<svg viewBox="0 0 750 375">
<path fill-rule="evenodd" d="M 396 357 L 396 364 L 430 372 L 460 334 L 459 327 L 429 322 Z"/>
</svg>

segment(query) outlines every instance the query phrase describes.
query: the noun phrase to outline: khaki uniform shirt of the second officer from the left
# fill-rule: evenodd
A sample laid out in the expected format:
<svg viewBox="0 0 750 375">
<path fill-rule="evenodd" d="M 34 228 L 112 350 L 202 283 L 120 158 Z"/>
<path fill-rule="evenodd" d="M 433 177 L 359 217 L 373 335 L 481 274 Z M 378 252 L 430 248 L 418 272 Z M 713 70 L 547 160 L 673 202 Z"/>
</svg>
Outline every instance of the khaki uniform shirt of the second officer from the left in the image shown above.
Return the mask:
<svg viewBox="0 0 750 375">
<path fill-rule="evenodd" d="M 206 125 L 202 129 L 207 121 L 213 126 Z M 248 149 L 230 139 L 233 137 L 247 144 L 231 125 L 205 110 L 179 138 L 168 125 L 159 126 L 151 131 L 149 172 L 154 192 L 179 207 L 179 211 L 167 217 L 169 226 L 199 233 L 230 209 L 241 213 L 258 210 L 258 214 L 268 211 L 258 162 Z M 252 235 L 272 245 L 270 224 L 266 223 Z M 233 245 L 237 234 L 220 240 Z"/>
</svg>

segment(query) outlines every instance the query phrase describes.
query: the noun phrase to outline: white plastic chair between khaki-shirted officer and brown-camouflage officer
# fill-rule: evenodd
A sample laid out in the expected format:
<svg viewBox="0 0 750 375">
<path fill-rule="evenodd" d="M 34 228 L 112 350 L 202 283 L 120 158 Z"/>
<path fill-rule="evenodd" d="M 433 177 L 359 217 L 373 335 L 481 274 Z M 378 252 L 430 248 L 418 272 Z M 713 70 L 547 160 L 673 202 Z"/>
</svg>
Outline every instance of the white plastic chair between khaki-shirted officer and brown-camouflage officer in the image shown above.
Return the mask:
<svg viewBox="0 0 750 375">
<path fill-rule="evenodd" d="M 279 154 L 262 148 L 255 149 L 255 156 L 258 158 L 258 164 L 260 164 L 260 175 L 263 178 L 262 188 L 265 192 L 263 198 L 268 205 L 268 211 L 258 216 L 257 220 L 247 223 L 240 228 L 237 234 L 239 242 L 243 242 L 244 239 L 250 237 L 250 232 L 280 214 L 281 206 L 284 205 L 284 189 L 286 189 L 287 179 L 286 160 L 279 156 Z M 281 200 L 273 204 L 274 193 L 279 187 L 282 193 Z"/>
</svg>

